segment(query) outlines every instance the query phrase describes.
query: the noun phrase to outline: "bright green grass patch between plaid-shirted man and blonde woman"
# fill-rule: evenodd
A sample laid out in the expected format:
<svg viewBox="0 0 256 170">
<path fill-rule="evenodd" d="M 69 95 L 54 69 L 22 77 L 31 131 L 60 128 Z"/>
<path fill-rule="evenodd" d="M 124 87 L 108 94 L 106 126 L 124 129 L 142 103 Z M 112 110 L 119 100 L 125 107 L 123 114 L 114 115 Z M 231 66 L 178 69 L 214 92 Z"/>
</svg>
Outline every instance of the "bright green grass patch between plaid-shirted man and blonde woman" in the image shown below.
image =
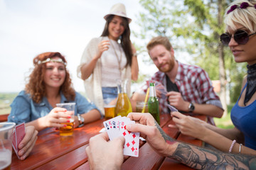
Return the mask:
<svg viewBox="0 0 256 170">
<path fill-rule="evenodd" d="M 234 125 L 230 118 L 230 111 L 233 108 L 233 106 L 234 106 L 233 104 L 228 106 L 228 114 L 224 118 L 213 118 L 218 128 L 223 128 L 223 129 L 234 128 Z"/>
</svg>

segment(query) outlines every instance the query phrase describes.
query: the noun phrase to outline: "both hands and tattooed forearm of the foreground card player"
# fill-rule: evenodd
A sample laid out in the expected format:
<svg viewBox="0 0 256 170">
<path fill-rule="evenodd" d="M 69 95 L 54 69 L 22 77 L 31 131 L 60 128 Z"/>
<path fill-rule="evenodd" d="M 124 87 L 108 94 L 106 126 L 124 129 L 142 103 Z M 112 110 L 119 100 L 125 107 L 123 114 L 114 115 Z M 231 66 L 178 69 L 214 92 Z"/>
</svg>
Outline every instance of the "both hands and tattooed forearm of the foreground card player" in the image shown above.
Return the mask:
<svg viewBox="0 0 256 170">
<path fill-rule="evenodd" d="M 193 169 L 255 169 L 256 157 L 252 155 L 231 154 L 174 140 L 166 135 L 149 113 L 129 113 L 127 118 L 139 122 L 127 125 L 127 130 L 140 132 L 158 154 Z M 121 169 L 124 142 L 124 137 L 109 141 L 107 132 L 91 137 L 86 148 L 90 169 Z"/>
</svg>

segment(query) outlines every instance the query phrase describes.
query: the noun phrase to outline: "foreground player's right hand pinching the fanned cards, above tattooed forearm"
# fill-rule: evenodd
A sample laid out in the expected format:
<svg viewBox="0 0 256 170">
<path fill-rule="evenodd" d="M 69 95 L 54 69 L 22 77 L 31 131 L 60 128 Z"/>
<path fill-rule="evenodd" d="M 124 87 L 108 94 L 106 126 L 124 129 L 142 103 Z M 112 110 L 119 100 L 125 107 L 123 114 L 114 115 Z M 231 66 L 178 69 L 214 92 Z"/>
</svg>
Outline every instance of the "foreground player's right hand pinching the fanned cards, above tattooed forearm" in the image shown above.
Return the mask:
<svg viewBox="0 0 256 170">
<path fill-rule="evenodd" d="M 156 152 L 164 157 L 170 155 L 168 150 L 170 145 L 166 141 L 174 142 L 174 139 L 166 135 L 150 113 L 129 113 L 127 118 L 139 122 L 127 125 L 127 130 L 140 132 L 141 136 Z"/>
</svg>

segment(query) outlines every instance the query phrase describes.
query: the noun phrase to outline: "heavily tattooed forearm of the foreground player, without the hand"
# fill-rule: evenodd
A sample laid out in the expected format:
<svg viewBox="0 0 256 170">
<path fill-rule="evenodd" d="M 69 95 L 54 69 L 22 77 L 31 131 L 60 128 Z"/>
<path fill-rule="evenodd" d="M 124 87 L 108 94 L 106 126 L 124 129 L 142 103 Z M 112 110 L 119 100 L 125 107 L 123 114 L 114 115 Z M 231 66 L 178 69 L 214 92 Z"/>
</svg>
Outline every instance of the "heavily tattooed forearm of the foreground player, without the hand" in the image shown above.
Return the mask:
<svg viewBox="0 0 256 170">
<path fill-rule="evenodd" d="M 256 157 L 228 154 L 184 143 L 178 144 L 171 158 L 193 169 L 255 169 Z"/>
</svg>

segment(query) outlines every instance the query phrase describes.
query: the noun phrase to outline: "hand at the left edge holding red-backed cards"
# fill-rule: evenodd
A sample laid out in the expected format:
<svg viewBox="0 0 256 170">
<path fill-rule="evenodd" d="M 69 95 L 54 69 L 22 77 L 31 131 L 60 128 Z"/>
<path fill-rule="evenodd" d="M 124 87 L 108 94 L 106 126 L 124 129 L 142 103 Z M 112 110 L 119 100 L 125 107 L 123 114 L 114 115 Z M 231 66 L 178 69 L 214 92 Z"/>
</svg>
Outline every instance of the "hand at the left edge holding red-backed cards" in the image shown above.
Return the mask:
<svg viewBox="0 0 256 170">
<path fill-rule="evenodd" d="M 27 126 L 25 128 L 25 136 L 18 145 L 18 156 L 21 160 L 26 159 L 28 154 L 32 151 L 37 140 L 37 135 L 38 131 L 33 126 Z"/>
</svg>

